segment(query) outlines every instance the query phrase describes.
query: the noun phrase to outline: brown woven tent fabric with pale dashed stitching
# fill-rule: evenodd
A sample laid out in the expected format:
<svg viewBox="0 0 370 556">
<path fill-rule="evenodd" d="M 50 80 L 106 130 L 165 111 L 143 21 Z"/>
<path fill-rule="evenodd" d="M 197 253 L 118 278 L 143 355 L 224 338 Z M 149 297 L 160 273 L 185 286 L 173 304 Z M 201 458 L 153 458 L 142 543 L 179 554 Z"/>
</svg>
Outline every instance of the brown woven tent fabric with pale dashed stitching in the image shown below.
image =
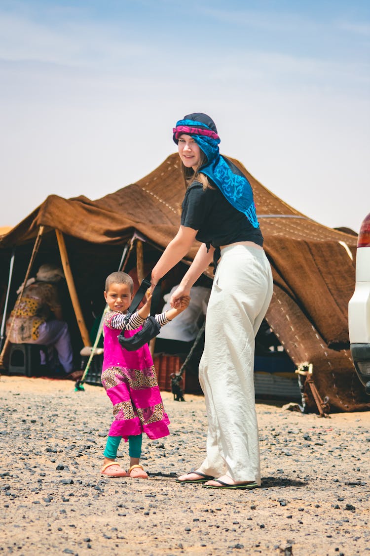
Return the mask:
<svg viewBox="0 0 370 556">
<path fill-rule="evenodd" d="M 322 226 L 274 195 L 237 160 L 254 190 L 274 294 L 266 320 L 293 363 L 313 364 L 313 379 L 331 410 L 370 409 L 354 371 L 348 339 L 348 301 L 355 283 L 357 237 Z M 177 153 L 138 182 L 92 201 L 50 195 L 0 238 L 0 249 L 36 237 L 40 225 L 102 246 L 123 245 L 134 232 L 163 250 L 180 224 L 185 193 Z M 195 255 L 195 244 L 186 260 Z M 211 269 L 209 275 L 212 275 Z M 315 402 L 307 392 L 307 405 Z"/>
</svg>

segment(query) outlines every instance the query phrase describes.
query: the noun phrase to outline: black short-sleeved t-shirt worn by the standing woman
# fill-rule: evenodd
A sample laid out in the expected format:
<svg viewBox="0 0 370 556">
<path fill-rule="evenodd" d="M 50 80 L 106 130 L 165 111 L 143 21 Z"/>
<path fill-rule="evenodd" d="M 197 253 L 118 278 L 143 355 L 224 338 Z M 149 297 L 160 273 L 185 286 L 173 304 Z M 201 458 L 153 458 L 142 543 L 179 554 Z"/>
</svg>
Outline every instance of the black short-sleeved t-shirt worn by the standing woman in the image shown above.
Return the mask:
<svg viewBox="0 0 370 556">
<path fill-rule="evenodd" d="M 213 247 L 237 241 L 263 244 L 259 228 L 254 228 L 246 215 L 230 205 L 218 187 L 214 189 L 193 182 L 185 193 L 181 225 L 198 230 L 196 239 Z"/>
</svg>

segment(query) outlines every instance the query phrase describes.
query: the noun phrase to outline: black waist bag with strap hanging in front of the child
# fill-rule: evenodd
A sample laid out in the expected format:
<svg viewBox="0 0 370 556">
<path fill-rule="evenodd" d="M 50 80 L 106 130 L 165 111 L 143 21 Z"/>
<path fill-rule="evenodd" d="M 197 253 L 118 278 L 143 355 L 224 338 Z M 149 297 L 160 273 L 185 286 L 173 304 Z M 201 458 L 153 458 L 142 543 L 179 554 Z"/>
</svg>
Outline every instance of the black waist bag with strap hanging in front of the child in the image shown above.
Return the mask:
<svg viewBox="0 0 370 556">
<path fill-rule="evenodd" d="M 139 332 L 136 332 L 134 336 L 130 338 L 125 337 L 125 329 L 126 325 L 130 319 L 130 316 L 138 309 L 140 301 L 143 299 L 145 291 L 150 287 L 150 274 L 144 278 L 141 282 L 138 291 L 135 294 L 135 297 L 130 305 L 130 308 L 125 315 L 125 325 L 123 330 L 121 330 L 120 335 L 118 336 L 118 341 L 124 349 L 128 351 L 135 351 L 139 349 L 139 347 L 143 347 L 143 345 L 148 344 L 151 339 L 159 334 L 161 329 L 160 324 L 158 321 L 155 320 L 154 314 L 156 306 L 158 305 L 159 297 L 160 297 L 160 286 L 157 284 L 155 286 L 153 297 L 151 300 L 151 307 L 150 307 L 150 315 L 145 320 L 145 324 Z"/>
</svg>

